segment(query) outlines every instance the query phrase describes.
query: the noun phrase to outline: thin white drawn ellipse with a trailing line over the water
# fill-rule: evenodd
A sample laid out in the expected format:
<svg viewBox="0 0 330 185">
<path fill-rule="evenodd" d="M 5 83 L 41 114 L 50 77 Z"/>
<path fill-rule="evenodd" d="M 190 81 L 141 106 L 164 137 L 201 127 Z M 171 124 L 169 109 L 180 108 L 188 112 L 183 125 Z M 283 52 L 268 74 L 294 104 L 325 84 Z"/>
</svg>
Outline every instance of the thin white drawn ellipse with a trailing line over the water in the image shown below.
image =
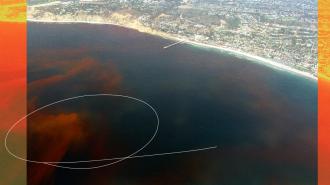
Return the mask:
<svg viewBox="0 0 330 185">
<path fill-rule="evenodd" d="M 99 166 L 93 166 L 93 167 L 68 167 L 68 166 L 63 166 L 63 165 L 58 165 L 58 164 L 64 164 L 64 163 L 68 163 L 68 162 L 57 162 L 57 161 L 36 161 L 36 160 L 29 160 L 26 159 L 24 157 L 20 157 L 16 154 L 14 154 L 9 148 L 8 148 L 8 144 L 7 144 L 7 140 L 8 140 L 8 136 L 10 135 L 11 131 L 20 123 L 22 122 L 24 119 L 27 119 L 29 116 L 31 116 L 32 114 L 41 111 L 42 109 L 45 109 L 47 107 L 51 107 L 53 105 L 56 105 L 58 103 L 62 103 L 62 102 L 66 102 L 69 100 L 75 100 L 75 99 L 80 99 L 80 98 L 86 98 L 86 97 L 98 97 L 98 96 L 112 96 L 112 97 L 121 97 L 121 98 L 127 98 L 127 99 L 131 99 L 131 100 L 135 100 L 137 102 L 143 103 L 144 105 L 146 105 L 147 107 L 149 107 L 153 113 L 155 114 L 155 117 L 157 119 L 157 125 L 156 125 L 156 129 L 152 135 L 152 137 L 138 150 L 136 150 L 135 152 L 129 154 L 128 156 L 125 157 L 116 157 L 116 158 L 106 158 L 106 159 L 94 159 L 94 160 L 87 160 L 87 161 L 68 161 L 70 163 L 82 163 L 82 162 L 100 162 L 100 161 L 114 161 L 114 162 L 110 162 L 110 163 L 106 163 L 103 165 L 99 165 Z M 74 97 L 70 97 L 70 98 L 65 98 L 62 100 L 58 100 L 55 101 L 53 103 L 47 104 L 45 106 L 42 106 L 40 108 L 37 108 L 36 110 L 28 113 L 27 115 L 25 115 L 24 117 L 20 118 L 18 121 L 16 121 L 7 131 L 6 136 L 5 136 L 5 140 L 4 140 L 4 145 L 5 145 L 5 149 L 6 151 L 13 156 L 16 159 L 25 161 L 25 162 L 31 162 L 31 163 L 37 163 L 37 164 L 45 164 L 45 165 L 49 165 L 49 166 L 54 166 L 57 168 L 64 168 L 64 169 L 70 169 L 70 170 L 91 170 L 91 169 L 97 169 L 97 168 L 103 168 L 106 166 L 111 166 L 113 164 L 122 162 L 124 160 L 130 159 L 130 158 L 143 158 L 143 157 L 152 157 L 152 156 L 162 156 L 162 155 L 174 155 L 174 154 L 182 154 L 182 153 L 188 153 L 188 152 L 198 152 L 198 151 L 203 151 L 203 150 L 210 150 L 210 149 L 214 149 L 217 146 L 213 146 L 213 147 L 207 147 L 207 148 L 200 148 L 200 149 L 193 149 L 193 150 L 183 150 L 183 151 L 176 151 L 176 152 L 167 152 L 167 153 L 158 153 L 158 154 L 147 154 L 147 155 L 140 155 L 140 156 L 136 156 L 136 154 L 142 150 L 144 150 L 156 137 L 158 130 L 159 130 L 159 116 L 158 113 L 156 111 L 155 108 L 153 108 L 149 103 L 145 102 L 144 100 L 138 99 L 138 98 L 134 98 L 131 96 L 126 96 L 126 95 L 120 95 L 120 94 L 85 94 L 85 95 L 80 95 L 80 96 L 74 96 Z"/>
</svg>

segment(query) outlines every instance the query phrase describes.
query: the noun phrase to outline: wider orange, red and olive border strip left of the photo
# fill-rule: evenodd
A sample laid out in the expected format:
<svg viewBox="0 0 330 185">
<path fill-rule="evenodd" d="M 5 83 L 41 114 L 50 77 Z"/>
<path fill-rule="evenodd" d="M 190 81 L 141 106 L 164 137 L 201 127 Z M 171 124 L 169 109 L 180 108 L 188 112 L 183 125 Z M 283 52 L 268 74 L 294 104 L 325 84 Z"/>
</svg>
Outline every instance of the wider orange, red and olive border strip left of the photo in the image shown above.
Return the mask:
<svg viewBox="0 0 330 185">
<path fill-rule="evenodd" d="M 11 123 L 26 115 L 26 2 L 0 0 L 0 141 Z M 26 125 L 13 133 L 15 150 L 26 154 Z M 10 141 L 10 142 L 11 142 Z M 26 163 L 0 147 L 0 184 L 26 185 Z"/>
</svg>

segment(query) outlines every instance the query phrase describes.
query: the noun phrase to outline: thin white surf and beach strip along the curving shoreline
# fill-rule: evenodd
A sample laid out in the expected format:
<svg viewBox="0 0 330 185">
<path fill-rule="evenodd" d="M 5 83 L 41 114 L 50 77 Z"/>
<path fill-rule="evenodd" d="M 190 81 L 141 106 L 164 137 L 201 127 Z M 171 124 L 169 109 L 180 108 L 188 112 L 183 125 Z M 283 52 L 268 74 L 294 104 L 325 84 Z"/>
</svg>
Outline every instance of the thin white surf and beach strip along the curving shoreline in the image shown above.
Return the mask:
<svg viewBox="0 0 330 185">
<path fill-rule="evenodd" d="M 267 65 L 269 67 L 273 67 L 279 70 L 283 70 L 283 71 L 287 71 L 287 72 L 291 72 L 303 77 L 307 77 L 309 79 L 315 80 L 317 81 L 317 77 L 315 77 L 314 75 L 305 72 L 305 71 L 300 71 L 298 69 L 295 69 L 293 67 L 278 63 L 278 62 L 274 62 L 270 59 L 267 58 L 263 58 L 260 56 L 256 56 L 250 53 L 246 53 L 243 51 L 238 51 L 236 49 L 231 49 L 231 48 L 227 48 L 227 47 L 221 47 L 221 46 L 215 46 L 215 45 L 211 45 L 211 44 L 205 44 L 205 43 L 200 43 L 200 42 L 196 42 L 196 41 L 191 41 L 191 40 L 186 40 L 186 39 L 181 39 L 181 38 L 177 38 L 177 37 L 173 37 L 169 34 L 166 33 L 162 33 L 162 32 L 158 32 L 158 31 L 147 31 L 146 29 L 143 28 L 136 28 L 136 27 L 131 27 L 131 26 L 124 26 L 121 24 L 116 24 L 116 23 L 110 23 L 110 22 L 98 22 L 98 21 L 79 21 L 79 20 L 38 20 L 38 19 L 27 19 L 28 22 L 40 22 L 40 23 L 63 23 L 63 24 L 74 24 L 74 23 L 86 23 L 86 24 L 103 24 L 103 25 L 115 25 L 115 26 L 120 26 L 120 27 L 124 27 L 124 28 L 129 28 L 129 29 L 134 29 L 137 30 L 139 32 L 143 32 L 143 33 L 148 33 L 148 34 L 152 34 L 152 35 L 156 35 L 156 36 L 160 36 L 164 39 L 169 39 L 172 41 L 176 41 L 176 42 L 181 42 L 186 43 L 186 44 L 191 44 L 191 45 L 195 45 L 195 46 L 199 46 L 199 47 L 204 47 L 204 48 L 212 48 L 212 49 L 217 49 L 220 51 L 224 51 L 227 52 L 229 54 L 233 54 L 236 55 L 238 57 L 244 57 L 246 59 L 249 59 L 253 62 L 259 62 L 261 64 Z"/>
</svg>

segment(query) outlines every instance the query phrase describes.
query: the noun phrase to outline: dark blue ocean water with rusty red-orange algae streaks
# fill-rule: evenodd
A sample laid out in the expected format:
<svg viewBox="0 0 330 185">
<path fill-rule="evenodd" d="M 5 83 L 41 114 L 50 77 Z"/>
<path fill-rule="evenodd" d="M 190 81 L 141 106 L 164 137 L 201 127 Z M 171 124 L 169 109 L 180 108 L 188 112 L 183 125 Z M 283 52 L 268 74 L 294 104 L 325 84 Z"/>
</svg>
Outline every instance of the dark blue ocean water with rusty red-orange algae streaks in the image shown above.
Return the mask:
<svg viewBox="0 0 330 185">
<path fill-rule="evenodd" d="M 159 132 L 137 155 L 96 170 L 28 164 L 29 184 L 313 185 L 316 81 L 215 49 L 111 25 L 28 23 L 28 111 L 95 93 L 155 108 Z M 28 158 L 127 156 L 156 128 L 150 108 L 120 97 L 56 104 L 28 119 Z M 67 164 L 92 167 L 105 164 Z"/>
</svg>

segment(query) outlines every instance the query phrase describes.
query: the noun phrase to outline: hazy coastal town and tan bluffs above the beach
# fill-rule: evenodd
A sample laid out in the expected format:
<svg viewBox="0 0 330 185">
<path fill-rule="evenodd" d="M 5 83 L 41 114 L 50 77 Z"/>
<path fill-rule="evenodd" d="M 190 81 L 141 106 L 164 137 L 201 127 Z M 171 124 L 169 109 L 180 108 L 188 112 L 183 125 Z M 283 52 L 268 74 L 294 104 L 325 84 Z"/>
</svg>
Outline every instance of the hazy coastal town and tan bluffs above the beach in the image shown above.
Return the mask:
<svg viewBox="0 0 330 185">
<path fill-rule="evenodd" d="M 28 20 L 115 24 L 317 76 L 316 0 L 30 0 Z"/>
</svg>

